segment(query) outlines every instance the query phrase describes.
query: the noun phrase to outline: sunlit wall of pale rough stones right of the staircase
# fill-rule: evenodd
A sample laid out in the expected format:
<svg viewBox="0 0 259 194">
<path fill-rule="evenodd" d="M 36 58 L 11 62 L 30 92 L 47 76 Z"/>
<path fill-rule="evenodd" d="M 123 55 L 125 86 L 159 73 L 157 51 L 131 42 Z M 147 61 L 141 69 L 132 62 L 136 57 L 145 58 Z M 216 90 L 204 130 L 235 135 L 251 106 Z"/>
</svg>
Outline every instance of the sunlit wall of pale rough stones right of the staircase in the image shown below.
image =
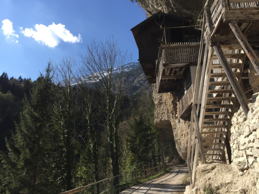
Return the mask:
<svg viewBox="0 0 259 194">
<path fill-rule="evenodd" d="M 242 108 L 234 114 L 231 126 L 232 167 L 244 175 L 252 169 L 259 178 L 259 93 L 252 96 L 249 112 L 244 115 Z M 257 189 L 259 182 L 257 181 Z"/>
</svg>

